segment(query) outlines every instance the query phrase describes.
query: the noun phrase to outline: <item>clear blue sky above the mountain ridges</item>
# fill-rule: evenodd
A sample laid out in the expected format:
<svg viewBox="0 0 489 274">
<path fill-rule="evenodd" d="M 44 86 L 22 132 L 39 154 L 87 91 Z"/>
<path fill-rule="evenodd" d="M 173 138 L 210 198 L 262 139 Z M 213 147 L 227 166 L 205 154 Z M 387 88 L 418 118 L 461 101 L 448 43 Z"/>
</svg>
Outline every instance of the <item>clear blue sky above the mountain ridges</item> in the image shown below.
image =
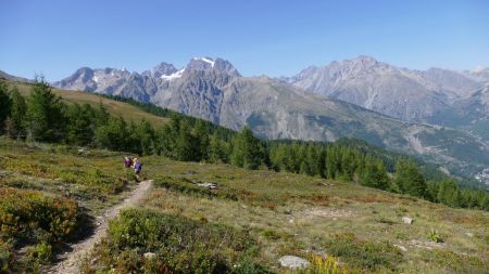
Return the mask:
<svg viewBox="0 0 489 274">
<path fill-rule="evenodd" d="M 58 80 L 82 66 L 141 71 L 221 56 L 246 76 L 372 55 L 489 66 L 489 1 L 0 0 L 0 69 Z"/>
</svg>

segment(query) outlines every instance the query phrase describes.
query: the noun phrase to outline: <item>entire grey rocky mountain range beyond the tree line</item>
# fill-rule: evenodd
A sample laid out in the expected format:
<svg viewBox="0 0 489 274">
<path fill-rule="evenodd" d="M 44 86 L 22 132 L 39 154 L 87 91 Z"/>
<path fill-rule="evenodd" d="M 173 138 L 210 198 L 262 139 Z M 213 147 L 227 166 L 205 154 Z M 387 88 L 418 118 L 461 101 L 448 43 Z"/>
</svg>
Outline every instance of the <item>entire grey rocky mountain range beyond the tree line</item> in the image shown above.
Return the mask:
<svg viewBox="0 0 489 274">
<path fill-rule="evenodd" d="M 52 84 L 151 102 L 235 130 L 249 125 L 262 138 L 362 139 L 475 174 L 489 165 L 484 139 L 416 122 L 486 102 L 477 95 L 482 71 L 418 71 L 360 56 L 274 79 L 242 77 L 225 60 L 195 57 L 183 68 L 161 63 L 142 73 L 83 67 Z M 477 119 L 487 114 L 479 109 Z"/>
</svg>

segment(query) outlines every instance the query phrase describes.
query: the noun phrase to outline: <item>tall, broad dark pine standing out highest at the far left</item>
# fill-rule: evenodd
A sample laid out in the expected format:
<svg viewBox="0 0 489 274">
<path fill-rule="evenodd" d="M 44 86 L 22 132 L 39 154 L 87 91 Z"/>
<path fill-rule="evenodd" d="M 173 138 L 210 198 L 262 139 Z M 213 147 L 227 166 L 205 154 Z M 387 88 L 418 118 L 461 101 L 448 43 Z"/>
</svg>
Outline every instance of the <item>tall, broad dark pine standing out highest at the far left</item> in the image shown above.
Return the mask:
<svg viewBox="0 0 489 274">
<path fill-rule="evenodd" d="M 27 100 L 26 130 L 34 140 L 60 142 L 65 138 L 65 105 L 42 78 Z"/>
</svg>

